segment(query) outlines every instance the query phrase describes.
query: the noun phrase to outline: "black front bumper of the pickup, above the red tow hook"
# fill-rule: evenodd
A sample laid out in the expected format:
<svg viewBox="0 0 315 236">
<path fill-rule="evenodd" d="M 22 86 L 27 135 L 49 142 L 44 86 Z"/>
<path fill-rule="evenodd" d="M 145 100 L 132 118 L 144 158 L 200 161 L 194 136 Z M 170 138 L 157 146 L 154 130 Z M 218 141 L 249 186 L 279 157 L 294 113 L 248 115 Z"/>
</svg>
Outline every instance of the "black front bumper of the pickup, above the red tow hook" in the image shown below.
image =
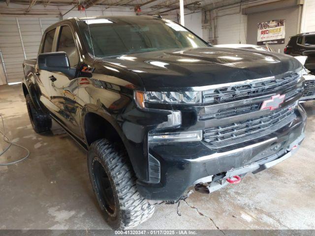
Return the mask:
<svg viewBox="0 0 315 236">
<path fill-rule="evenodd" d="M 203 141 L 157 143 L 149 149 L 149 163 L 152 166 L 151 169 L 149 167 L 149 171 L 156 174 L 159 182 L 154 184 L 138 181 L 138 191 L 146 199 L 176 201 L 188 187 L 202 181 L 210 182 L 212 177 L 218 174 L 229 177 L 228 173 L 232 173 L 233 170 L 253 163 L 288 157 L 290 155 L 288 153 L 292 154 L 292 152 L 287 150 L 292 145 L 296 145 L 295 143 L 302 142 L 305 124 L 306 113 L 299 106 L 296 110 L 296 118 L 288 125 L 274 133 L 233 147 L 213 149 Z M 248 172 L 266 168 L 268 163 L 256 167 L 248 169 Z"/>
</svg>

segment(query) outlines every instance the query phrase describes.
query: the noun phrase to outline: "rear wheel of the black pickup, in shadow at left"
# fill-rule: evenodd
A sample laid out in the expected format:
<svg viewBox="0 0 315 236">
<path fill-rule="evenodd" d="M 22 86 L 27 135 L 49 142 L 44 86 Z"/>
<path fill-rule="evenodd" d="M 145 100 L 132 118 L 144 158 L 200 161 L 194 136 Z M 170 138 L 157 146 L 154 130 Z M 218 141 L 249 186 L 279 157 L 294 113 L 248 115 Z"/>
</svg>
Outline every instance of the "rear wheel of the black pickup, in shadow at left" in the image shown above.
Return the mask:
<svg viewBox="0 0 315 236">
<path fill-rule="evenodd" d="M 50 131 L 52 121 L 48 114 L 37 110 L 32 102 L 30 94 L 25 96 L 29 117 L 36 133 L 45 133 Z"/>
</svg>

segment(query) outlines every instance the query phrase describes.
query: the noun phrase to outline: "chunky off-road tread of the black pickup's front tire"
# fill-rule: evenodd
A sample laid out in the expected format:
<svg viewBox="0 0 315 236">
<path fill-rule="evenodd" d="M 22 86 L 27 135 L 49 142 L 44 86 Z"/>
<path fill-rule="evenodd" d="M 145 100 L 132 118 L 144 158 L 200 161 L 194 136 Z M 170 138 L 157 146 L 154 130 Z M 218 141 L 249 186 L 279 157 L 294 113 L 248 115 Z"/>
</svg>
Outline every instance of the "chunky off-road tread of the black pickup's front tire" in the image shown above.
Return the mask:
<svg viewBox="0 0 315 236">
<path fill-rule="evenodd" d="M 118 229 L 130 229 L 149 219 L 155 206 L 150 205 L 137 191 L 136 177 L 127 159 L 126 150 L 117 150 L 106 139 L 95 141 L 90 149 L 105 163 L 114 182 L 113 191 L 118 196 L 120 208 Z"/>
</svg>

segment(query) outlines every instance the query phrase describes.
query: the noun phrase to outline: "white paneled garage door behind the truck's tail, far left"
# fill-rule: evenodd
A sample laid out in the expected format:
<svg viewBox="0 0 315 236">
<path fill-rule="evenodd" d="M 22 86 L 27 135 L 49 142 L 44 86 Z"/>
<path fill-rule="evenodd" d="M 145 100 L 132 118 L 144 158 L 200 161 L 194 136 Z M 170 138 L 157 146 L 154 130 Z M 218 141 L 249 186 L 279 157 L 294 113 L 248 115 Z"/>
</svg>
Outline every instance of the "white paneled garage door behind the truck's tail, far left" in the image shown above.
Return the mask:
<svg viewBox="0 0 315 236">
<path fill-rule="evenodd" d="M 43 31 L 58 21 L 58 18 L 0 17 L 0 56 L 8 83 L 22 80 L 23 60 L 37 57 Z"/>
</svg>

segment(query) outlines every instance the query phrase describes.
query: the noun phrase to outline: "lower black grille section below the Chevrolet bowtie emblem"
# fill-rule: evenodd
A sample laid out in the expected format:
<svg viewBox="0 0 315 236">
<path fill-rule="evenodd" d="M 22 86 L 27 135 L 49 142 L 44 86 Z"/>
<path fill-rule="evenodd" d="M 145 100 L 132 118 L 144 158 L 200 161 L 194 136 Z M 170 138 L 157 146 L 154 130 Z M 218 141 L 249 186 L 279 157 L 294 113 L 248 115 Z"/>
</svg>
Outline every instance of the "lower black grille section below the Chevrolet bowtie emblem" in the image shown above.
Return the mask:
<svg viewBox="0 0 315 236">
<path fill-rule="evenodd" d="M 258 118 L 204 129 L 203 139 L 209 144 L 216 145 L 221 144 L 222 142 L 250 136 L 267 129 L 271 130 L 273 125 L 279 124 L 294 113 L 294 109 L 289 109 L 289 107 Z M 283 122 L 281 124 L 285 125 Z"/>
</svg>

